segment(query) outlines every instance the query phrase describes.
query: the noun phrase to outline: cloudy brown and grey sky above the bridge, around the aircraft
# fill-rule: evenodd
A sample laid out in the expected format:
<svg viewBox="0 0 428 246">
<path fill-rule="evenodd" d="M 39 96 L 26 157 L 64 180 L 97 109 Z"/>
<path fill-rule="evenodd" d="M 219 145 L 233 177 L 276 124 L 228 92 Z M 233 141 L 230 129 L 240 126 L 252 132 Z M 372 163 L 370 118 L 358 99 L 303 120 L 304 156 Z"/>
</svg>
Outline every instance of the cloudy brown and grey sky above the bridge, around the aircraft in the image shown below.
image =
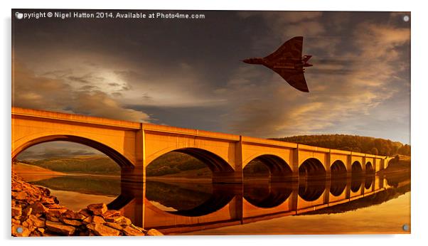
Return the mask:
<svg viewBox="0 0 428 246">
<path fill-rule="evenodd" d="M 187 13 L 205 18 L 14 18 L 12 104 L 251 137 L 410 144 L 410 13 Z M 294 36 L 313 55 L 309 93 L 241 61 Z"/>
</svg>

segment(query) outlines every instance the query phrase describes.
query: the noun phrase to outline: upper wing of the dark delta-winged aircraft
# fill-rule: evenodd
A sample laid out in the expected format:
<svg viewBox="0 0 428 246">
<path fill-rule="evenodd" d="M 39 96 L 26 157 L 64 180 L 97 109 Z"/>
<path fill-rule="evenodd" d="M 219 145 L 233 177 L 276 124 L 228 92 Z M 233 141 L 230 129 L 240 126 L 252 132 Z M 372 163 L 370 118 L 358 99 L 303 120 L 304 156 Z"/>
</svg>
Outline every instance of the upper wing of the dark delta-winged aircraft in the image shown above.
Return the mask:
<svg viewBox="0 0 428 246">
<path fill-rule="evenodd" d="M 299 59 L 301 60 L 301 50 L 303 48 L 303 37 L 298 36 L 291 38 L 289 41 L 285 42 L 281 47 L 279 47 L 274 53 L 267 55 L 264 59 L 271 61 L 279 59 Z"/>
</svg>

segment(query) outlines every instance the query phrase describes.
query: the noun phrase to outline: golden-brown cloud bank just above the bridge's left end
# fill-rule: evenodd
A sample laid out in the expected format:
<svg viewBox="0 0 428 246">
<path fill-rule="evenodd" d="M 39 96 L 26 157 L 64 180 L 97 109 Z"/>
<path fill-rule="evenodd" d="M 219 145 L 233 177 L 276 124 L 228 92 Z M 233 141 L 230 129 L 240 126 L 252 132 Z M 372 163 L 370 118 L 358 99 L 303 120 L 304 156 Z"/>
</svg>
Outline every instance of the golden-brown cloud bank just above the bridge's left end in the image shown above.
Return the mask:
<svg viewBox="0 0 428 246">
<path fill-rule="evenodd" d="M 14 63 L 13 106 L 134 122 L 150 120 L 148 114 L 127 109 L 114 100 L 112 95 L 96 89 L 97 87 L 92 85 L 75 89 L 63 79 L 36 75 L 23 65 Z"/>
</svg>

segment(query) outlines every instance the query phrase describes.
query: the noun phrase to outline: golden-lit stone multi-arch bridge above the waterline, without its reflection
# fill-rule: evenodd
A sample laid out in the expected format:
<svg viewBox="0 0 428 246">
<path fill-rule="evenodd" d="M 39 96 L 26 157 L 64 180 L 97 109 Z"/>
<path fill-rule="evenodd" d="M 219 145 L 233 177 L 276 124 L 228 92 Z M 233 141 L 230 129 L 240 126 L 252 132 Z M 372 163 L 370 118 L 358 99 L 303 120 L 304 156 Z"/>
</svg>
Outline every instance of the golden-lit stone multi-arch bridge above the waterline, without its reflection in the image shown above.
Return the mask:
<svg viewBox="0 0 428 246">
<path fill-rule="evenodd" d="M 300 177 L 360 176 L 387 167 L 390 157 L 326 149 L 198 129 L 126 122 L 77 114 L 12 107 L 11 157 L 47 141 L 91 146 L 122 168 L 122 180 L 145 182 L 151 161 L 171 151 L 200 159 L 213 171 L 213 183 L 242 183 L 252 160 L 269 168 L 271 181 Z"/>
</svg>

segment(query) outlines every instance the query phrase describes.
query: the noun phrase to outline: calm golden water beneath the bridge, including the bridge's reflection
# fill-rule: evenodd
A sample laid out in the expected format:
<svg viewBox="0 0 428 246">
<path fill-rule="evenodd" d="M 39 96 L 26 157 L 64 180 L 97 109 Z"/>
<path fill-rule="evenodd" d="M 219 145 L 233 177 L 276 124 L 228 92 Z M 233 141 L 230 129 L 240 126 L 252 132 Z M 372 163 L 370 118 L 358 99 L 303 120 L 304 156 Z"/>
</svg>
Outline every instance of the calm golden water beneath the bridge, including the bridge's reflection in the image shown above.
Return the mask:
<svg viewBox="0 0 428 246">
<path fill-rule="evenodd" d="M 35 174 L 37 175 L 37 174 Z M 50 188 L 79 210 L 107 203 L 136 225 L 169 234 L 408 233 L 410 174 L 242 184 L 55 176 L 31 183 Z"/>
</svg>

